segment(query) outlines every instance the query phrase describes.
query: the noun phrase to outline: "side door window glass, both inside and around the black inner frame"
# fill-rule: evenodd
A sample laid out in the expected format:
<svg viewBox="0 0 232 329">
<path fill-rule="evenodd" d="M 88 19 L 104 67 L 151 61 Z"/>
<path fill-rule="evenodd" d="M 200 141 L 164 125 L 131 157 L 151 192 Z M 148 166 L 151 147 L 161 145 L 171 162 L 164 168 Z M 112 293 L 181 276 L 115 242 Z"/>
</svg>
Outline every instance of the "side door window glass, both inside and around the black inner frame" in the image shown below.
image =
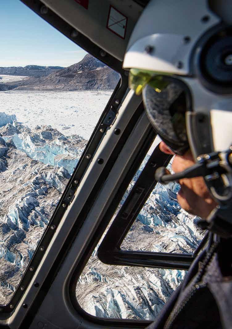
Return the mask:
<svg viewBox="0 0 232 329">
<path fill-rule="evenodd" d="M 160 139 L 156 138 L 130 182 L 114 218 L 159 142 Z M 180 209 L 176 201 L 178 189 L 176 183 L 157 184 L 123 240 L 121 249 L 186 253 L 196 248 L 203 235 L 195 227 L 196 218 Z M 97 257 L 98 246 L 77 282 L 79 305 L 93 316 L 154 320 L 183 281 L 186 271 L 106 265 Z"/>
</svg>

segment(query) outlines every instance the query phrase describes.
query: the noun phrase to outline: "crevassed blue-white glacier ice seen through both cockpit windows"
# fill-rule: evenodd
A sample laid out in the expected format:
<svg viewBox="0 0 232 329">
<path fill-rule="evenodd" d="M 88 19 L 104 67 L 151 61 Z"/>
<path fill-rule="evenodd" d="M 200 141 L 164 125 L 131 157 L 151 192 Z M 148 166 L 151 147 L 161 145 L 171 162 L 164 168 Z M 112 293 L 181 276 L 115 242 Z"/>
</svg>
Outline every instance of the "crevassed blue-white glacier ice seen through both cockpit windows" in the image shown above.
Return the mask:
<svg viewBox="0 0 232 329">
<path fill-rule="evenodd" d="M 49 125 L 29 128 L 17 122 L 15 115 L 8 122 L 1 121 L 0 115 L 1 122 L 0 303 L 5 304 L 20 282 L 87 140 L 76 134 L 65 136 Z M 195 225 L 197 218 L 180 209 L 178 189 L 176 183 L 157 184 L 121 249 L 195 250 L 203 233 Z M 185 276 L 180 270 L 108 266 L 99 261 L 97 247 L 76 287 L 79 304 L 94 316 L 153 320 Z"/>
</svg>

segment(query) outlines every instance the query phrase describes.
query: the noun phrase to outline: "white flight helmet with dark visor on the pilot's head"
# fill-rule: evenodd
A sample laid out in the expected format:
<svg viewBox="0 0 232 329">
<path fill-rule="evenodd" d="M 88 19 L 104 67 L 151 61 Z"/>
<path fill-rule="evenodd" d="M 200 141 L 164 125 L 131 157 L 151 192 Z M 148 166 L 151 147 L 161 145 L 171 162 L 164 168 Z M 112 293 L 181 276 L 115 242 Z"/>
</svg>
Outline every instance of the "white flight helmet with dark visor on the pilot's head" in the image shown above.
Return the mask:
<svg viewBox="0 0 232 329">
<path fill-rule="evenodd" d="M 190 147 L 195 176 L 232 209 L 231 0 L 151 0 L 123 67 L 160 137 L 176 153 Z"/>
</svg>

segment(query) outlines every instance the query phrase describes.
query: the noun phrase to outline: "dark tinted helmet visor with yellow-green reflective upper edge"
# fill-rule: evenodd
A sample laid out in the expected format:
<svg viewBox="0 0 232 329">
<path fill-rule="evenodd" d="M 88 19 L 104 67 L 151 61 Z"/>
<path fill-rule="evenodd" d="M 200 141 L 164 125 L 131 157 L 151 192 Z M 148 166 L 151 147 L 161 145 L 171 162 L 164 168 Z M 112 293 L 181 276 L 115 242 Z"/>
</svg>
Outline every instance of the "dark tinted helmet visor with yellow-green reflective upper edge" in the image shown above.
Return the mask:
<svg viewBox="0 0 232 329">
<path fill-rule="evenodd" d="M 174 153 L 183 155 L 189 143 L 185 124 L 188 97 L 182 83 L 154 72 L 131 69 L 129 86 L 136 94 L 142 92 L 147 116 L 157 134 Z"/>
</svg>

